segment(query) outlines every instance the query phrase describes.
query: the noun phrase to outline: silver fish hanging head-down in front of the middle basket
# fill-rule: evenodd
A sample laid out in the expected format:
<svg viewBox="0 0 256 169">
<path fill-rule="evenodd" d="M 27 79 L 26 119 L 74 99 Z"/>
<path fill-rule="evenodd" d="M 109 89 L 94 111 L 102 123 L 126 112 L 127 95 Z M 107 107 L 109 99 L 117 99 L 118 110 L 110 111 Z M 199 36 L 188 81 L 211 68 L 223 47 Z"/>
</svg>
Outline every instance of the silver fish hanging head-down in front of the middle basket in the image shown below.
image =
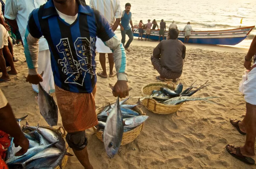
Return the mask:
<svg viewBox="0 0 256 169">
<path fill-rule="evenodd" d="M 107 117 L 105 130 L 103 133 L 104 147 L 109 158 L 117 154 L 123 137 L 123 118 L 119 105 L 119 96 L 115 107 Z"/>
</svg>

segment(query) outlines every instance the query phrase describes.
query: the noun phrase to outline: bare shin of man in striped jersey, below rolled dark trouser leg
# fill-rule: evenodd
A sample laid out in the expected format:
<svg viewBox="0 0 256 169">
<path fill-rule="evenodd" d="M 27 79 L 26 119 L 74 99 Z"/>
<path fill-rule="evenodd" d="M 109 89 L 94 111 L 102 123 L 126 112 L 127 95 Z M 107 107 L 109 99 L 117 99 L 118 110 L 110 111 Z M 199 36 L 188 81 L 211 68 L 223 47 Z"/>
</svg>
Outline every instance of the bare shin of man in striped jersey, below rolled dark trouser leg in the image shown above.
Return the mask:
<svg viewBox="0 0 256 169">
<path fill-rule="evenodd" d="M 85 169 L 93 169 L 93 166 L 91 165 L 88 157 L 87 147 L 85 147 L 83 150 L 77 151 L 73 149 L 75 156 L 79 160 L 79 162 L 82 164 Z"/>
</svg>

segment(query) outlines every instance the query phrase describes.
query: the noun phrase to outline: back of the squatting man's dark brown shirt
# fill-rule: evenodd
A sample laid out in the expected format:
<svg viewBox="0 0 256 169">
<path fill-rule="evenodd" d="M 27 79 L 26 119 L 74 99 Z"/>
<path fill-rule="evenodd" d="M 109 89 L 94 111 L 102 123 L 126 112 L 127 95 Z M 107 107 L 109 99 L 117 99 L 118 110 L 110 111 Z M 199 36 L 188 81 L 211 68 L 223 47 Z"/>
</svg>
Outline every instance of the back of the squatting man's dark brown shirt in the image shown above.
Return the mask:
<svg viewBox="0 0 256 169">
<path fill-rule="evenodd" d="M 181 73 L 186 47 L 180 40 L 168 39 L 161 42 L 161 65 L 174 73 Z"/>
</svg>

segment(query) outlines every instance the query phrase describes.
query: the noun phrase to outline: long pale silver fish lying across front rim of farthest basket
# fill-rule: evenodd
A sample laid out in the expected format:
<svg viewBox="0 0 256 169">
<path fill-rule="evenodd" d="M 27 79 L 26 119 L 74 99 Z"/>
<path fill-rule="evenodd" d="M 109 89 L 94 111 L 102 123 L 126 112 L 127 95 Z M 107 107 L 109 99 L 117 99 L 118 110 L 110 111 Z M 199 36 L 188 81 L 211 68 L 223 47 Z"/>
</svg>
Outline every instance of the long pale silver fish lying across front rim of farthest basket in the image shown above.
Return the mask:
<svg viewBox="0 0 256 169">
<path fill-rule="evenodd" d="M 164 101 L 163 104 L 176 105 L 176 104 L 179 104 L 181 102 L 196 101 L 196 100 L 203 100 L 203 101 L 206 101 L 206 102 L 209 102 L 209 103 L 217 104 L 215 102 L 207 100 L 207 99 L 210 99 L 210 98 L 219 98 L 219 97 L 189 97 L 189 96 L 181 96 L 181 97 L 170 98 L 169 100 Z"/>
</svg>

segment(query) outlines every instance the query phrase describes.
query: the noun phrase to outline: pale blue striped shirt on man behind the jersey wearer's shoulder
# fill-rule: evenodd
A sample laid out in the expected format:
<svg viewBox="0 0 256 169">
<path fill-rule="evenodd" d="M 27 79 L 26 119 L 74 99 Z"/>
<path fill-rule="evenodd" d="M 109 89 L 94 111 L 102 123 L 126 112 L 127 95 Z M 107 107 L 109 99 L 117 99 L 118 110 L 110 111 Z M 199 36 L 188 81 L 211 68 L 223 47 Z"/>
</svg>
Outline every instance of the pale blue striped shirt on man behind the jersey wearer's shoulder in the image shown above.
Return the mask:
<svg viewBox="0 0 256 169">
<path fill-rule="evenodd" d="M 16 19 L 19 33 L 21 34 L 24 43 L 25 32 L 27 28 L 27 21 L 29 14 L 45 4 L 47 0 L 6 0 L 5 3 L 5 18 L 14 20 Z M 46 39 L 42 36 L 39 40 L 39 51 L 48 50 L 49 46 Z"/>
</svg>

